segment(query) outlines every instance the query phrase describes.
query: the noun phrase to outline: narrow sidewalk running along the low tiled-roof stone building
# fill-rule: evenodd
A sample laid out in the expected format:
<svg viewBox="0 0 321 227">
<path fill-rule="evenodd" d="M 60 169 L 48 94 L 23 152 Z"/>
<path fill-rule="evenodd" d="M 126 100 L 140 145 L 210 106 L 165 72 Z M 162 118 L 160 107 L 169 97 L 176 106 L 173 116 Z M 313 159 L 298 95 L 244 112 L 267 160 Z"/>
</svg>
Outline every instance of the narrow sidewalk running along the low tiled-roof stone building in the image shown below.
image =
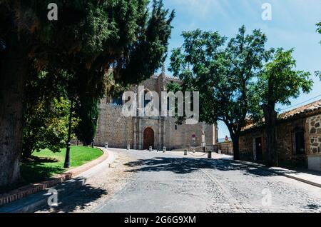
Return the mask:
<svg viewBox="0 0 321 227">
<path fill-rule="evenodd" d="M 217 154 L 216 154 L 217 155 Z M 281 168 L 281 167 L 266 167 L 260 163 L 253 163 L 250 161 L 234 161 L 233 157 L 225 158 L 221 157 L 220 159 L 224 161 L 232 161 L 235 163 L 242 163 L 244 165 L 253 166 L 256 168 L 263 168 L 266 171 L 270 171 L 280 176 L 286 176 L 288 178 L 295 179 L 304 183 L 308 183 L 312 186 L 317 186 L 321 188 L 321 172 L 320 171 L 310 171 L 305 168 Z"/>
</svg>

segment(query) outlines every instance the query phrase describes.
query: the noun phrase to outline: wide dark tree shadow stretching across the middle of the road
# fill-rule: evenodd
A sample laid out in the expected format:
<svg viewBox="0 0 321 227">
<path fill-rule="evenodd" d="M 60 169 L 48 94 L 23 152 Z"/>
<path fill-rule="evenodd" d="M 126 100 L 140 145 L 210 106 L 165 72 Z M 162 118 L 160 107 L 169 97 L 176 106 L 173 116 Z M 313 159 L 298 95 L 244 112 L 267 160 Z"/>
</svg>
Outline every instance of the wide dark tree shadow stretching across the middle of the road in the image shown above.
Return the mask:
<svg viewBox="0 0 321 227">
<path fill-rule="evenodd" d="M 139 171 L 172 171 L 173 173 L 192 173 L 200 168 L 211 168 L 219 171 L 243 171 L 245 174 L 255 176 L 275 176 L 277 174 L 265 171 L 262 168 L 255 168 L 244 165 L 242 163 L 233 163 L 220 159 L 207 158 L 172 158 L 172 157 L 156 157 L 148 159 L 139 159 L 126 163 L 133 169 L 130 172 Z"/>
</svg>

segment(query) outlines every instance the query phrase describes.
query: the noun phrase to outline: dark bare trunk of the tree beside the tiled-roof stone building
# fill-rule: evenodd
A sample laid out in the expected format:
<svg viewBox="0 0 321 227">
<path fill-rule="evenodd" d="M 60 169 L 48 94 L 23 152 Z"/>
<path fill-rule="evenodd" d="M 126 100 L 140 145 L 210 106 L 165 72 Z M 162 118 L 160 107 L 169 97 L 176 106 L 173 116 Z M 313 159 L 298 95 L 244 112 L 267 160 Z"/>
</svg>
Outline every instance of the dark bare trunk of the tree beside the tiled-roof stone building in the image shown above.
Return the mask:
<svg viewBox="0 0 321 227">
<path fill-rule="evenodd" d="M 275 140 L 275 126 L 277 121 L 277 113 L 275 111 L 275 104 L 264 104 L 263 113 L 265 118 L 265 133 L 267 136 L 266 154 L 267 159 L 265 164 L 267 166 L 278 166 L 277 149 Z"/>
</svg>

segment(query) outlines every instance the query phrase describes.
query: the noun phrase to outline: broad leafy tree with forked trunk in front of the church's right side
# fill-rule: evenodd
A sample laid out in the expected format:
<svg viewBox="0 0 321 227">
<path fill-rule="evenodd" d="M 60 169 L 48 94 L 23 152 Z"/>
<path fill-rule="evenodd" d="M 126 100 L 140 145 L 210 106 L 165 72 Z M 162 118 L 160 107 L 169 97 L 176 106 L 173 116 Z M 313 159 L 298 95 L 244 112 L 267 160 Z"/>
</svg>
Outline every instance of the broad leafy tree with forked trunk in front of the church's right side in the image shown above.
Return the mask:
<svg viewBox="0 0 321 227">
<path fill-rule="evenodd" d="M 170 71 L 183 79 L 186 89 L 200 91 L 200 121 L 223 121 L 239 159 L 239 136 L 253 96 L 253 78 L 270 56 L 260 30 L 245 34 L 245 26 L 228 41 L 218 32 L 183 32 L 183 46 L 174 49 Z"/>
</svg>

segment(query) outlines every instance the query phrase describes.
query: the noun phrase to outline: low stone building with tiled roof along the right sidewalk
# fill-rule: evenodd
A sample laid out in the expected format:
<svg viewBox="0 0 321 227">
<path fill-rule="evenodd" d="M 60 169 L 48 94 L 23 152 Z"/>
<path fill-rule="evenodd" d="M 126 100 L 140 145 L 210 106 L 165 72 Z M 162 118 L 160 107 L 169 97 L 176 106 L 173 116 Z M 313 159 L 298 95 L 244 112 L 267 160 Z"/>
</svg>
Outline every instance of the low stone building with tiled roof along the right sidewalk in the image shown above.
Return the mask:
<svg viewBox="0 0 321 227">
<path fill-rule="evenodd" d="M 321 171 L 321 100 L 280 114 L 276 140 L 280 166 Z M 264 161 L 265 149 L 265 128 L 248 123 L 240 136 L 241 159 Z"/>
</svg>

